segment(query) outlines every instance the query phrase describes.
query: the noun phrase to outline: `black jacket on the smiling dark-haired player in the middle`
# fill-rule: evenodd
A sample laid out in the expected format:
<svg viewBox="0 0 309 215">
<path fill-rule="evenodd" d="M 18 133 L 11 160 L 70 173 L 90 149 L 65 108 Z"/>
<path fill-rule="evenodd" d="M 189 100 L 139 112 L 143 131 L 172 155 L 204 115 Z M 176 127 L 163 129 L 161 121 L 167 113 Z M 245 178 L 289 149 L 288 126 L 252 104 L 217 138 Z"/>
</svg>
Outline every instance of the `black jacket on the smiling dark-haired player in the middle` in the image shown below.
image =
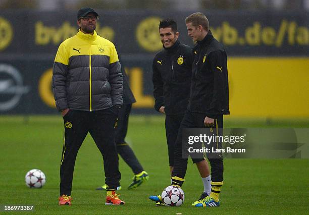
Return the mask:
<svg viewBox="0 0 309 215">
<path fill-rule="evenodd" d="M 190 95 L 192 48 L 178 40 L 157 53 L 152 63 L 155 109 L 165 106 L 167 115 L 184 114 Z"/>
</svg>

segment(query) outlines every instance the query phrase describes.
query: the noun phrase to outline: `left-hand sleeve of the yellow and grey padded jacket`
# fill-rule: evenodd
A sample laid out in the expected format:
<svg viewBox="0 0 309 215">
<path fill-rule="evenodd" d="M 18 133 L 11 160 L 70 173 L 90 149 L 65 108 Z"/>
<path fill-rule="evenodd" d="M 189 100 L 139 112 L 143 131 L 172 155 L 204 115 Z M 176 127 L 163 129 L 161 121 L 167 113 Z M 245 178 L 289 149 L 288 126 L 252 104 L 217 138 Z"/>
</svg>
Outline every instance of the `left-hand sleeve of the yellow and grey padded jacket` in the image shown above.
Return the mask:
<svg viewBox="0 0 309 215">
<path fill-rule="evenodd" d="M 64 43 L 58 48 L 53 66 L 53 93 L 58 111 L 69 108 L 66 93 L 66 80 L 68 74 L 68 50 Z"/>
</svg>

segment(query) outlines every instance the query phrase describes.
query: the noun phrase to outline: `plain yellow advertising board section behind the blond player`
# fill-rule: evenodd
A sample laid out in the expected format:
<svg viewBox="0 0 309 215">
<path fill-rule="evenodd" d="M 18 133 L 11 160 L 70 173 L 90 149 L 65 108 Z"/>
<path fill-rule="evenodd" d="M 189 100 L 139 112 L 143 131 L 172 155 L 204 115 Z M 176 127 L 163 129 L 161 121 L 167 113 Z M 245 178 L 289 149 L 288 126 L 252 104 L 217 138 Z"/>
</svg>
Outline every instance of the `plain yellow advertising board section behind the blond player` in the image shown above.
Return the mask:
<svg viewBox="0 0 309 215">
<path fill-rule="evenodd" d="M 231 117 L 309 118 L 309 58 L 229 58 Z"/>
</svg>

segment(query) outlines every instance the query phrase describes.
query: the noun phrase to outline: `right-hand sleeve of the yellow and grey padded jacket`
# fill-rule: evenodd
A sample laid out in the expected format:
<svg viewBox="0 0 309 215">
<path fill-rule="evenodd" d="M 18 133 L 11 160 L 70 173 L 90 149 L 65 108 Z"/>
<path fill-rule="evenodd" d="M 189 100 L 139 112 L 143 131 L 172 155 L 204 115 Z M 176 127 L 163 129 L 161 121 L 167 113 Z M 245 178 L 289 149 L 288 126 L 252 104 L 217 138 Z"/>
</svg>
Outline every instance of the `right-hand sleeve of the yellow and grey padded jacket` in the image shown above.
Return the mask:
<svg viewBox="0 0 309 215">
<path fill-rule="evenodd" d="M 121 65 L 119 63 L 117 51 L 114 44 L 112 44 L 111 47 L 109 82 L 111 85 L 111 98 L 113 106 L 116 104 L 122 105 L 123 77 L 121 74 Z"/>
</svg>

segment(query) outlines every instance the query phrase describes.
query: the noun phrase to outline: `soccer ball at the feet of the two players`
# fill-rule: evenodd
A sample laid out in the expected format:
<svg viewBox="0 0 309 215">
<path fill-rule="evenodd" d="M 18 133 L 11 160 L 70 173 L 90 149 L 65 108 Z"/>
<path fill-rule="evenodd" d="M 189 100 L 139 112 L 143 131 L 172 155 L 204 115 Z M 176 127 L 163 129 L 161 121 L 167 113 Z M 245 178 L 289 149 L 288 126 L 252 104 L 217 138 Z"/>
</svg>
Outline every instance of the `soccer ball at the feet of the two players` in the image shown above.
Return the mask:
<svg viewBox="0 0 309 215">
<path fill-rule="evenodd" d="M 184 192 L 180 187 L 168 186 L 161 194 L 165 206 L 180 206 L 184 201 Z"/>
</svg>

